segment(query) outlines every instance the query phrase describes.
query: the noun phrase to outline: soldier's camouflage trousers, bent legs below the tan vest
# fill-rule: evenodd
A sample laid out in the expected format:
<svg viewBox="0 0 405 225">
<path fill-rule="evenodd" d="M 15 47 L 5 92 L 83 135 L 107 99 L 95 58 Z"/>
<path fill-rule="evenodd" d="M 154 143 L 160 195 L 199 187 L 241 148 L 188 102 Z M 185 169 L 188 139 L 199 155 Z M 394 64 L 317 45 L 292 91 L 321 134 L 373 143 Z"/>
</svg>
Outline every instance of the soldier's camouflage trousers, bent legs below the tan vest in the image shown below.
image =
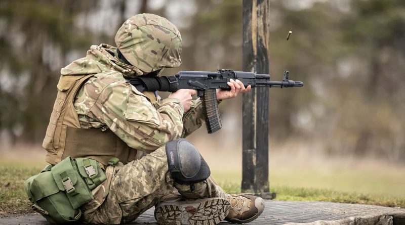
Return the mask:
<svg viewBox="0 0 405 225">
<path fill-rule="evenodd" d="M 107 181 L 93 190 L 94 199 L 82 206 L 82 221 L 125 223 L 161 201 L 178 197 L 225 198 L 224 191 L 211 177 L 195 183 L 191 190 L 190 185 L 175 183 L 168 169 L 165 146 L 126 165 L 108 166 Z"/>
</svg>

